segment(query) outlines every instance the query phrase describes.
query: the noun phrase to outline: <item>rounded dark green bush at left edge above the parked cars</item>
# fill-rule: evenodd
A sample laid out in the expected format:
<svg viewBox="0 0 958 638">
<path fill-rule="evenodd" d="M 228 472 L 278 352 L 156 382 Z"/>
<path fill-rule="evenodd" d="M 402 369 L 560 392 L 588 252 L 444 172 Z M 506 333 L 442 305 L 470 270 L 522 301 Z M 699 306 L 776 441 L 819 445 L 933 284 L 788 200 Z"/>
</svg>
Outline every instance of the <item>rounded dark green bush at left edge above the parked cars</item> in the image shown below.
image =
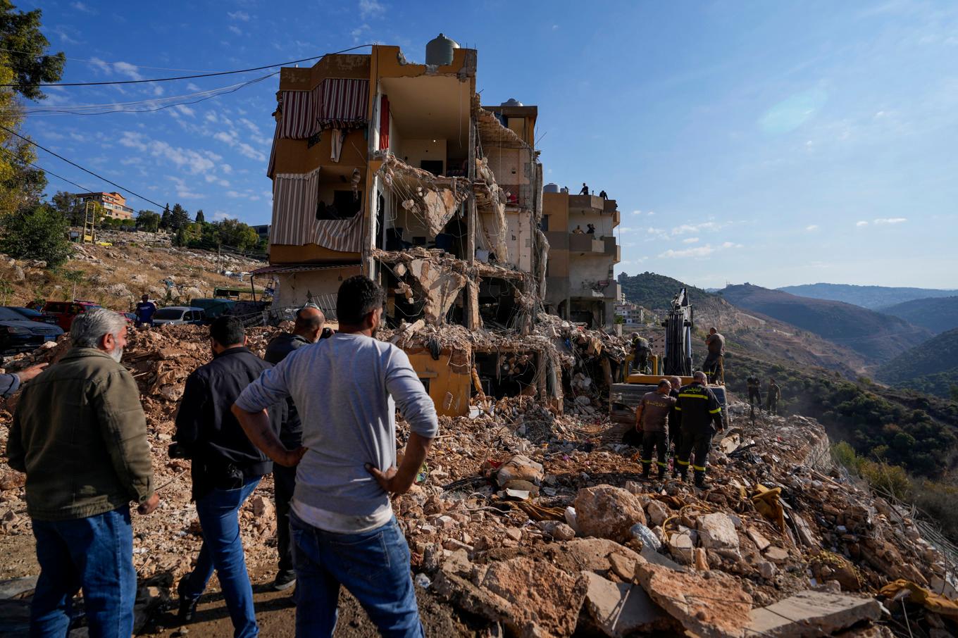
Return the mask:
<svg viewBox="0 0 958 638">
<path fill-rule="evenodd" d="M 73 251 L 66 218 L 47 204 L 22 208 L 0 218 L 0 251 L 14 259 L 43 260 L 53 267 Z"/>
</svg>

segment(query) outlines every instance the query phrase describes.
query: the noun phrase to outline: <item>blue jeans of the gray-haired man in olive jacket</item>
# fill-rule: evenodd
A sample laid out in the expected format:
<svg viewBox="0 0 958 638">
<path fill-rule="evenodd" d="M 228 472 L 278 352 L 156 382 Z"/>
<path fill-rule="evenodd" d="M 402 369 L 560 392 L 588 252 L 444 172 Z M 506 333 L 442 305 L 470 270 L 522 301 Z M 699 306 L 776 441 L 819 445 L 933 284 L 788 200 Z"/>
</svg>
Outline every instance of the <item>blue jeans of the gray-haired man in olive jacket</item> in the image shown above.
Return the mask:
<svg viewBox="0 0 958 638">
<path fill-rule="evenodd" d="M 72 520 L 34 519 L 34 536 L 40 578 L 30 635 L 65 636 L 71 599 L 82 588 L 90 635 L 129 638 L 136 599 L 129 508 Z"/>
</svg>

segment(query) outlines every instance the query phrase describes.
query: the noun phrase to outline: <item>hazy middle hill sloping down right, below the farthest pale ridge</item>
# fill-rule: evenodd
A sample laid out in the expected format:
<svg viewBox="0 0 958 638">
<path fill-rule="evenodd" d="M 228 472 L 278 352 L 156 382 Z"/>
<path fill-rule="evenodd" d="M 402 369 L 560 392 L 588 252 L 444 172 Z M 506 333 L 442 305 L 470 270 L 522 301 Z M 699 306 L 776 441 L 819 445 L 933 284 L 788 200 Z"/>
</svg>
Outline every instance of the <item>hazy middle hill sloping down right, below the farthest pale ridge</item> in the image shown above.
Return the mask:
<svg viewBox="0 0 958 638">
<path fill-rule="evenodd" d="M 883 362 L 932 336 L 930 330 L 874 310 L 811 299 L 758 285 L 729 285 L 721 296 L 739 308 L 762 312 Z"/>
</svg>

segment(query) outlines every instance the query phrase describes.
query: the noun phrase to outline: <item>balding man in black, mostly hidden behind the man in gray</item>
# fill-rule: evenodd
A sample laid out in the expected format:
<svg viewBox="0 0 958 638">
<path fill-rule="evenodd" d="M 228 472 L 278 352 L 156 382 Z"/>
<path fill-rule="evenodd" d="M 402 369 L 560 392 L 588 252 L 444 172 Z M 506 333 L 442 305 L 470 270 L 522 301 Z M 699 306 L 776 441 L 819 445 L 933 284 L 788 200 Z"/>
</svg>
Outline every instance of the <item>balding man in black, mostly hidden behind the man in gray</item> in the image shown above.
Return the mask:
<svg viewBox="0 0 958 638">
<path fill-rule="evenodd" d="M 296 312 L 296 324 L 292 332 L 282 332 L 273 337 L 266 346 L 263 359 L 276 365 L 286 358 L 286 354 L 316 343 L 323 332 L 326 317 L 315 306 L 300 308 Z M 286 399 L 286 416 L 280 427 L 280 442 L 286 449 L 298 449 L 303 444 L 303 423 L 293 399 Z M 296 584 L 296 570 L 293 569 L 292 546 L 289 544 L 289 501 L 296 487 L 296 468 L 273 466 L 273 487 L 276 502 L 276 539 L 280 554 L 279 572 L 273 581 L 273 589 L 283 591 Z"/>
</svg>

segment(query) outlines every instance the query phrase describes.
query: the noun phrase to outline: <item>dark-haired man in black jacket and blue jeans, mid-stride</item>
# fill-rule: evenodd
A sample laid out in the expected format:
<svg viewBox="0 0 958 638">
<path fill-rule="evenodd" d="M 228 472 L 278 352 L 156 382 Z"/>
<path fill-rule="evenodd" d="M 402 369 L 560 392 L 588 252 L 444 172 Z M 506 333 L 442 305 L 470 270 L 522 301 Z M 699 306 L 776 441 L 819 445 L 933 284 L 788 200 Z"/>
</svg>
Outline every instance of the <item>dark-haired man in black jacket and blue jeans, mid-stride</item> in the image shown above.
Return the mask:
<svg viewBox="0 0 958 638">
<path fill-rule="evenodd" d="M 273 464 L 246 438 L 230 411 L 239 393 L 271 366 L 246 349 L 242 324 L 219 317 L 210 326 L 213 360 L 186 380 L 171 454 L 193 459 L 193 498 L 203 547 L 191 574 L 179 583 L 181 622 L 193 618 L 206 583 L 217 570 L 236 638 L 259 633 L 253 588 L 239 537 L 239 508 Z M 285 403 L 270 410 L 277 432 Z"/>
</svg>

